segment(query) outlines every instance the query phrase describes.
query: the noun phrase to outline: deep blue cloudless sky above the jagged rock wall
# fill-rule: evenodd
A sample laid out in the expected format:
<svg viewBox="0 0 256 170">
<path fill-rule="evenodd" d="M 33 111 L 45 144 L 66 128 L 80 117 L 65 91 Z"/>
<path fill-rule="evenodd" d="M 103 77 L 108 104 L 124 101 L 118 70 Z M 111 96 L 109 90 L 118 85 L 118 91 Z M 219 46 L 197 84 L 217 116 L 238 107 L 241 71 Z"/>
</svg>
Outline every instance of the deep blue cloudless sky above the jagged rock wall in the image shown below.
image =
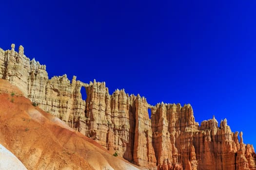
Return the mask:
<svg viewBox="0 0 256 170">
<path fill-rule="evenodd" d="M 0 48 L 23 45 L 49 77 L 106 82 L 196 121 L 227 118 L 256 146 L 256 1 L 5 0 Z"/>
</svg>

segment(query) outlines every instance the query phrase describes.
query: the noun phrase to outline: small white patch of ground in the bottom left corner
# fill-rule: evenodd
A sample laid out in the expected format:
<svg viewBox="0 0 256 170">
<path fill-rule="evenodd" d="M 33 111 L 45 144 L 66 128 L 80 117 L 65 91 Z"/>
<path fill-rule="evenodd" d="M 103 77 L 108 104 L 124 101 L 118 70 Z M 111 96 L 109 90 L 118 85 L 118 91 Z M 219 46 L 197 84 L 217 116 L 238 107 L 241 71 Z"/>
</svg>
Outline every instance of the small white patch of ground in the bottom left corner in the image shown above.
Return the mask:
<svg viewBox="0 0 256 170">
<path fill-rule="evenodd" d="M 27 170 L 20 160 L 0 144 L 0 170 Z"/>
</svg>

